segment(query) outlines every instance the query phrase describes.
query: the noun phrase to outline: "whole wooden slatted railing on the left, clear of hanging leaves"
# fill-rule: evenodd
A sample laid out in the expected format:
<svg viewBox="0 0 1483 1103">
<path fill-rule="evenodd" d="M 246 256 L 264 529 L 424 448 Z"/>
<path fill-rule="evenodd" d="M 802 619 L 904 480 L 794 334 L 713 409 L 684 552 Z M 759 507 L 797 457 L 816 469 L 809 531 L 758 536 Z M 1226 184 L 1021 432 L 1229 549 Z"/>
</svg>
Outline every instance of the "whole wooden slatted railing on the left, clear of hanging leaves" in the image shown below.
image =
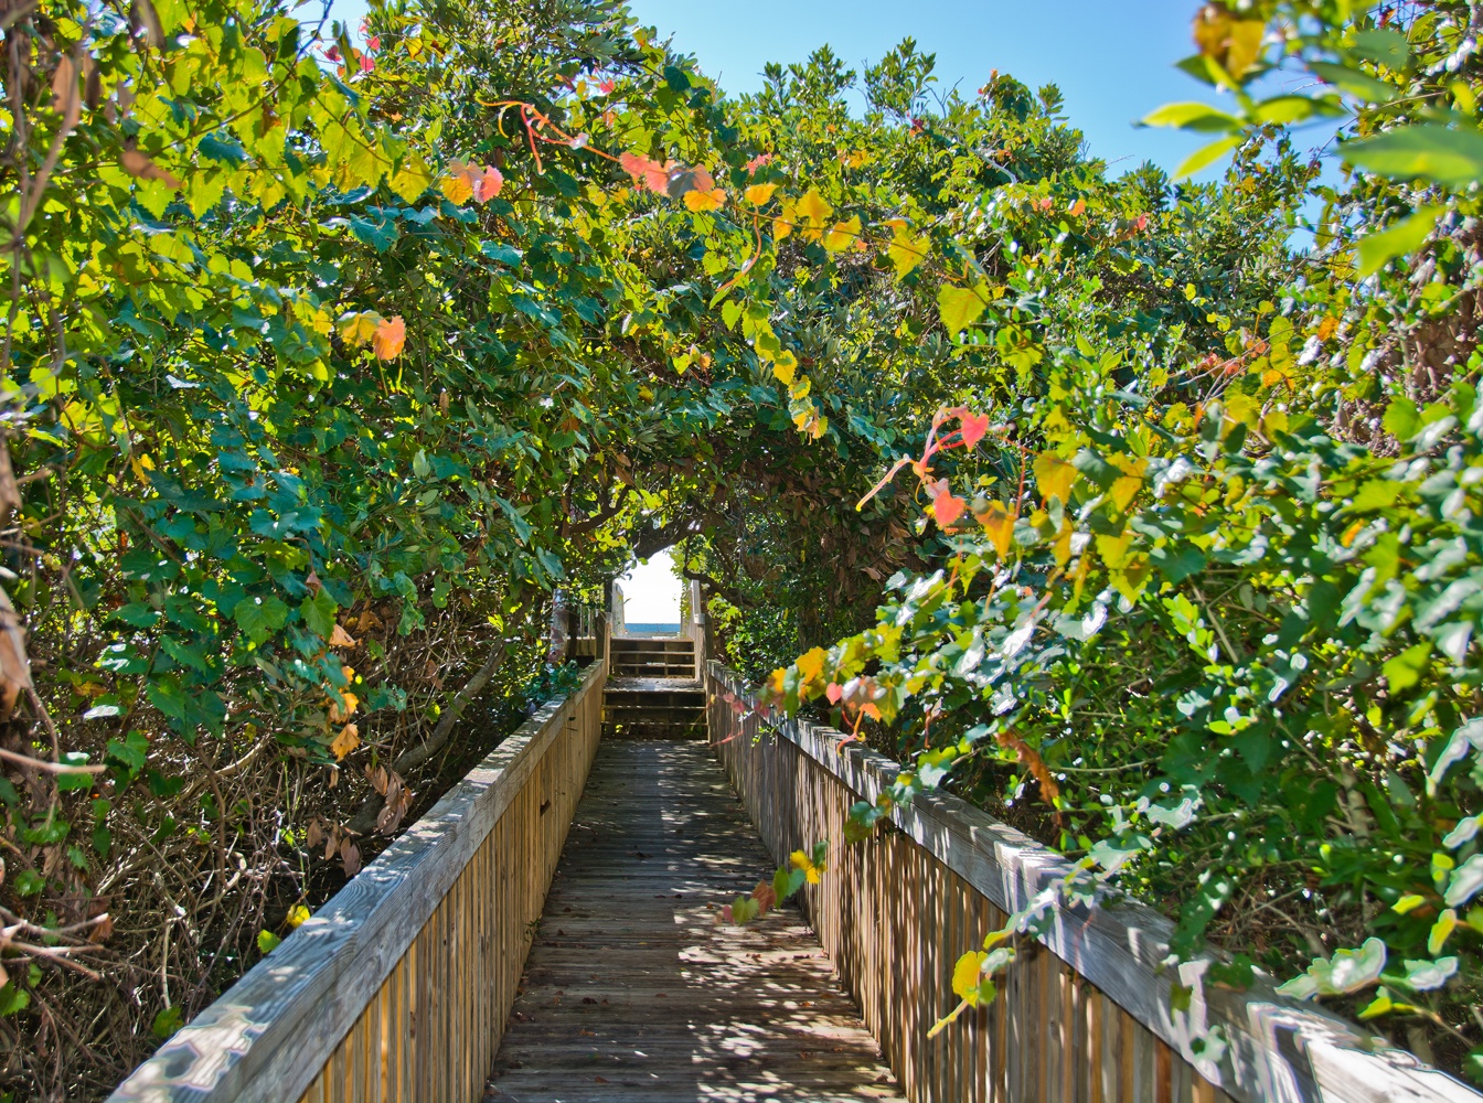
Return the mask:
<svg viewBox="0 0 1483 1103">
<path fill-rule="evenodd" d="M 602 731 L 604 661 L 141 1064 L 111 1103 L 460 1103 L 500 1048 Z"/>
</svg>

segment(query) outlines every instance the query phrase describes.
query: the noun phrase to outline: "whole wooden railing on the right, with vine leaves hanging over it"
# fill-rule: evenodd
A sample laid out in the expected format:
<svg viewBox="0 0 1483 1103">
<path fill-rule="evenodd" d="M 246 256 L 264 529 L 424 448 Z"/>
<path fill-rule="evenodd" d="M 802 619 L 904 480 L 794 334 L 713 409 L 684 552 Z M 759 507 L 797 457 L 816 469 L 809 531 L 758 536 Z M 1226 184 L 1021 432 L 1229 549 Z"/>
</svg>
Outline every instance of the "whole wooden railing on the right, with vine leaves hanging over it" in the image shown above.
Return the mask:
<svg viewBox="0 0 1483 1103">
<path fill-rule="evenodd" d="M 832 728 L 759 716 L 747 686 L 715 661 L 706 689 L 716 755 L 780 861 L 839 841 L 850 806 L 900 772 Z M 957 1004 L 957 958 L 1071 867 L 954 796 L 918 798 L 891 820 L 835 848 L 804 907 L 912 1103 L 1483 1099 L 1266 984 L 1237 993 L 1198 984 L 1198 964 L 1161 968 L 1173 928 L 1140 904 L 1059 910 L 991 1007 L 928 1039 Z M 1195 990 L 1185 1011 L 1170 999 L 1176 980 Z M 1223 1042 L 1218 1056 L 1204 1050 L 1210 1039 Z"/>
</svg>

